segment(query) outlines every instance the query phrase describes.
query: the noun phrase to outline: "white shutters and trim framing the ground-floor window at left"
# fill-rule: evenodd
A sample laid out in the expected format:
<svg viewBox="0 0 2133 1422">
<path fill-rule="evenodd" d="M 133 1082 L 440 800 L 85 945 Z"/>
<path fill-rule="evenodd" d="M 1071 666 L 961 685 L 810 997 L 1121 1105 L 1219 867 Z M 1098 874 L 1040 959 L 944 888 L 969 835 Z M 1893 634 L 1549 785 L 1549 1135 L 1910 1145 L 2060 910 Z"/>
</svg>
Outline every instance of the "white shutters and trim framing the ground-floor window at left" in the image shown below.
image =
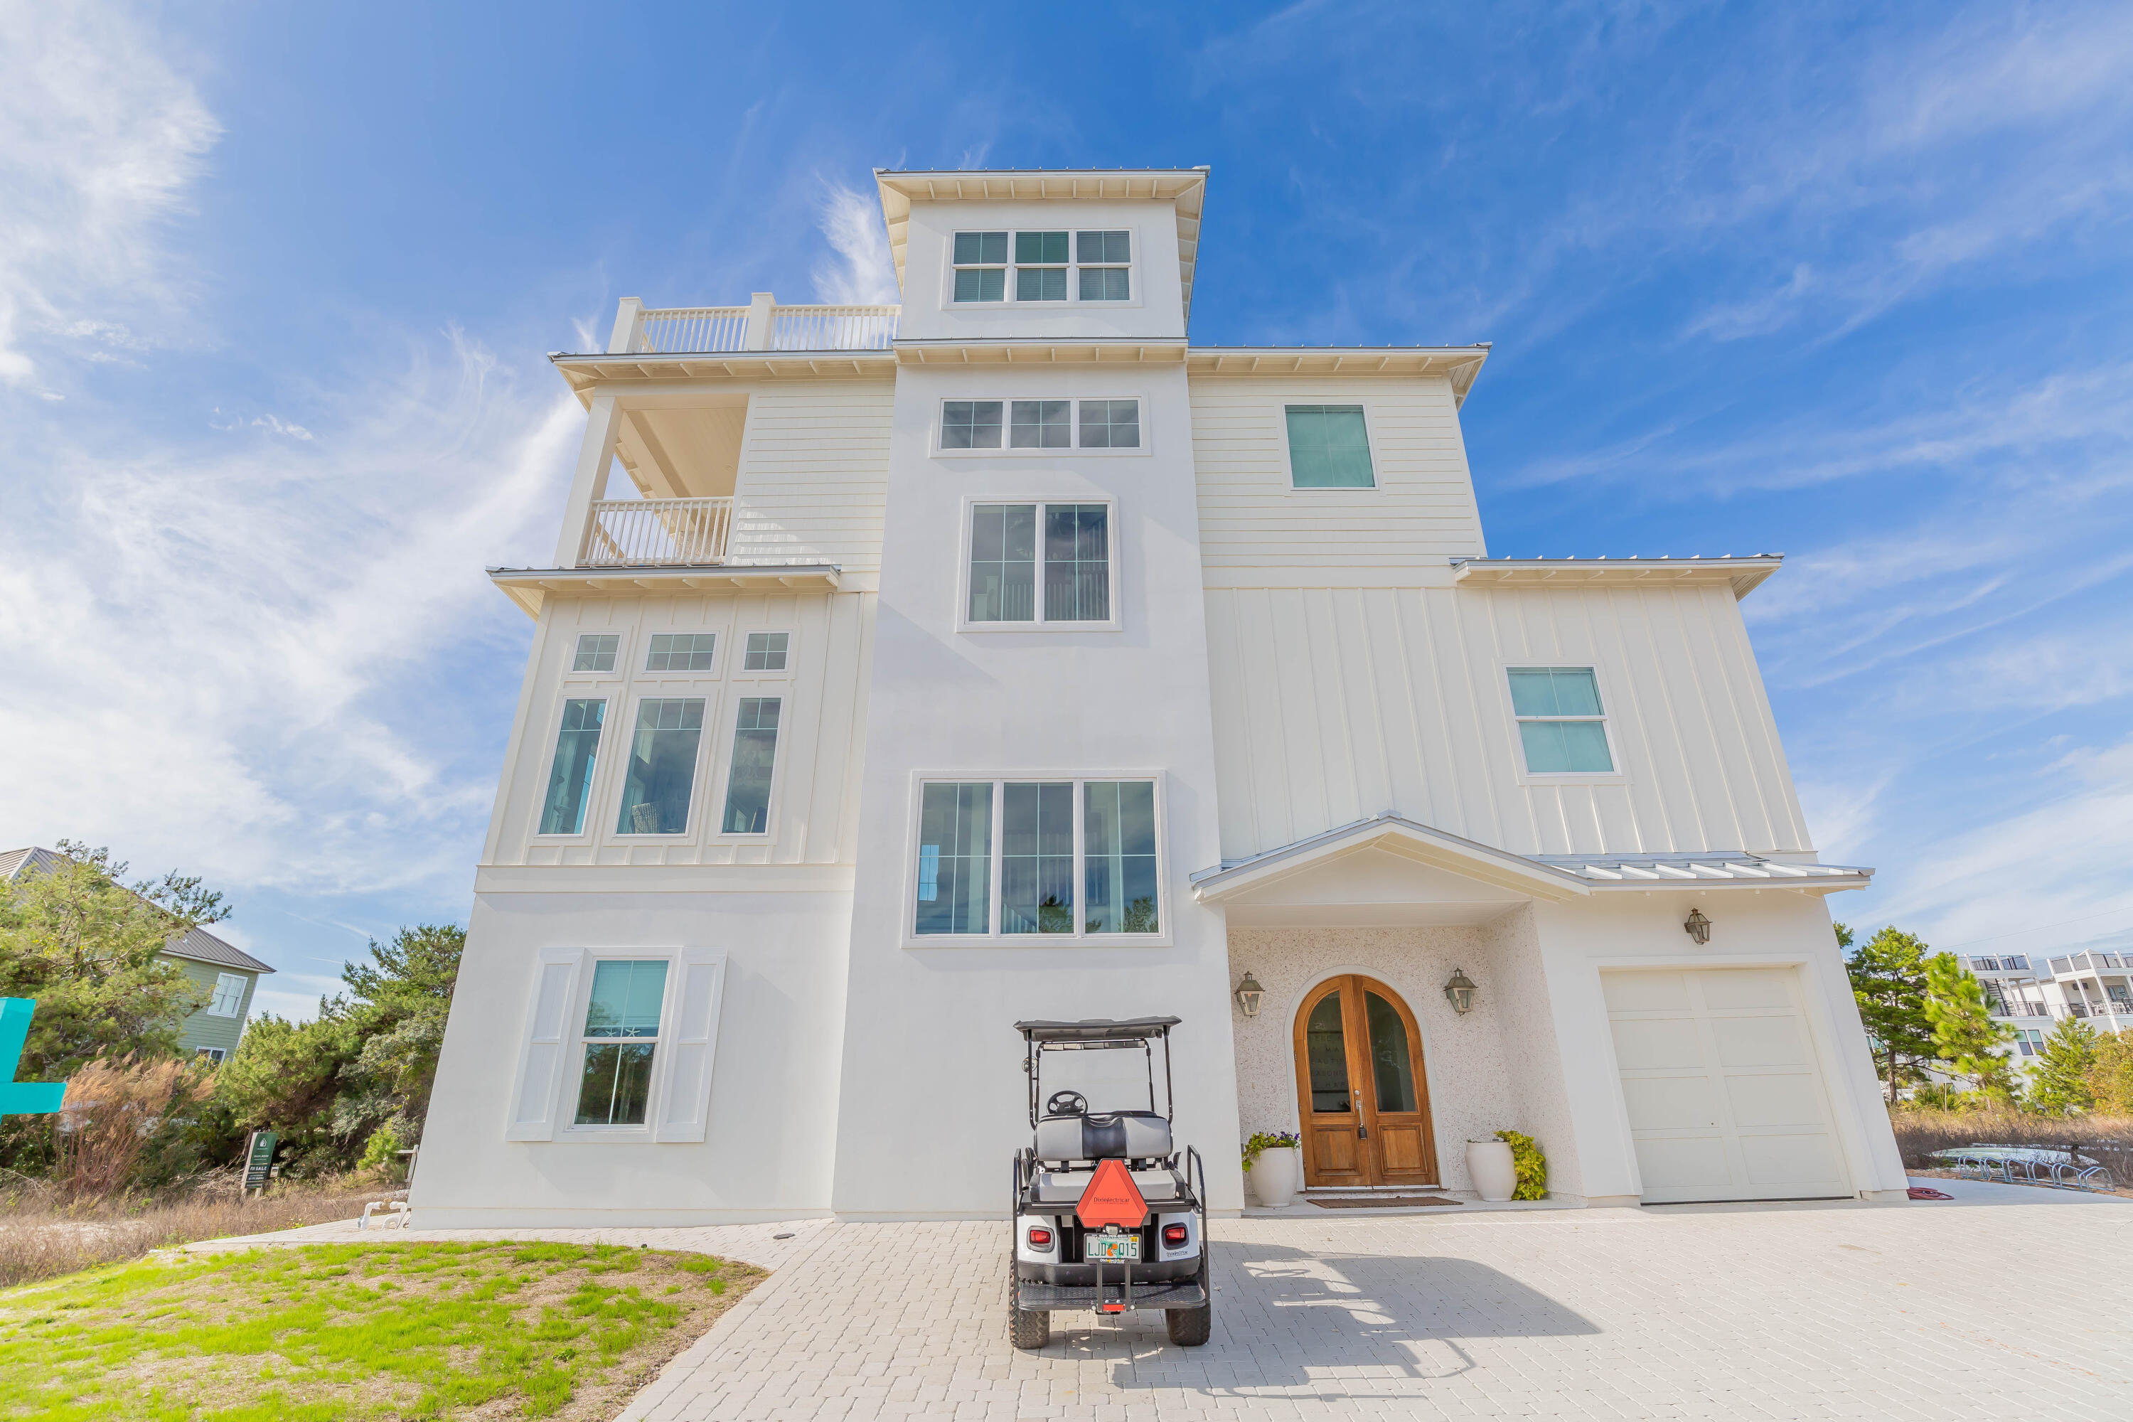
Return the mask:
<svg viewBox="0 0 2133 1422">
<path fill-rule="evenodd" d="M 702 947 L 542 949 L 518 1038 L 518 1074 L 512 1083 L 514 1117 L 506 1121 L 503 1138 L 557 1145 L 704 1141 L 725 998 L 725 949 Z M 574 1121 L 578 1115 L 576 1089 L 584 1074 L 584 1008 L 593 996 L 593 964 L 604 959 L 663 959 L 668 964 L 644 1126 L 578 1126 Z M 540 1021 L 544 991 L 550 1004 L 561 1004 L 559 1023 Z"/>
</svg>

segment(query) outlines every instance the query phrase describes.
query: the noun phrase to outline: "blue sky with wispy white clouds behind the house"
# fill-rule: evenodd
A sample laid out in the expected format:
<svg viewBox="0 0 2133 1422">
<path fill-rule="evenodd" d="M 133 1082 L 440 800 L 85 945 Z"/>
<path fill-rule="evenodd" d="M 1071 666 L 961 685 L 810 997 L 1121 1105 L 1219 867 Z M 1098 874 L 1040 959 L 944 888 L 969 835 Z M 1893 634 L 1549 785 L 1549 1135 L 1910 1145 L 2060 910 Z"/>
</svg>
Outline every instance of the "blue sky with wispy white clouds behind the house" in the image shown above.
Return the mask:
<svg viewBox="0 0 2133 1422">
<path fill-rule="evenodd" d="M 2133 925 L 2133 9 L 0 0 L 0 846 L 309 1011 L 463 921 L 651 305 L 892 298 L 872 166 L 1214 168 L 1201 343 L 1463 343 L 1491 552 L 1747 603 L 1854 923 Z M 1723 849 L 1723 846 L 1721 846 Z"/>
</svg>

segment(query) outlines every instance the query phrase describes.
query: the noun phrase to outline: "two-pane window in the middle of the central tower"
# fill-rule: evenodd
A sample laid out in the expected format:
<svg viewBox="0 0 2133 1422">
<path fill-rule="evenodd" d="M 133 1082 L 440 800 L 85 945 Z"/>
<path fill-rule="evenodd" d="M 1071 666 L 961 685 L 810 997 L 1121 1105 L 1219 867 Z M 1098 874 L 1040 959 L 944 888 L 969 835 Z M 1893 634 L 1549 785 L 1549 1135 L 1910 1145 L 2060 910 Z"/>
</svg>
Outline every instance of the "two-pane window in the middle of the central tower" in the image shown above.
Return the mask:
<svg viewBox="0 0 2133 1422">
<path fill-rule="evenodd" d="M 1109 623 L 1111 507 L 973 503 L 968 597 L 968 623 Z"/>
</svg>

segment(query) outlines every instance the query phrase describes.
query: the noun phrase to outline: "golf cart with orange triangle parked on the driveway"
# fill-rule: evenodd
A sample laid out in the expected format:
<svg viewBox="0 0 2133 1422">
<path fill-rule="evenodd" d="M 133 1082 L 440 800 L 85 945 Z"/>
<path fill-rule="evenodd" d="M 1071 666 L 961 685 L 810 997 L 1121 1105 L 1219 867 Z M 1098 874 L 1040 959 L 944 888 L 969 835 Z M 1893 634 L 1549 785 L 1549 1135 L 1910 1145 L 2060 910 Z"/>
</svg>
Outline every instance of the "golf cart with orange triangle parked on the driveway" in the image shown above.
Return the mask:
<svg viewBox="0 0 2133 1422">
<path fill-rule="evenodd" d="M 1009 1211 L 1015 1232 L 1007 1307 L 1015 1347 L 1045 1345 L 1052 1309 L 1162 1309 L 1171 1343 L 1182 1347 L 1199 1347 L 1214 1328 L 1207 1173 L 1199 1151 L 1171 1143 L 1175 1025 L 1175 1017 L 1015 1023 L 1035 1132 L 1030 1149 L 1015 1151 Z M 1162 1043 L 1162 1113 L 1156 1113 L 1154 1043 Z M 1141 1051 L 1148 1111 L 1090 1111 L 1081 1092 L 1045 1096 L 1045 1057 L 1060 1051 Z"/>
</svg>

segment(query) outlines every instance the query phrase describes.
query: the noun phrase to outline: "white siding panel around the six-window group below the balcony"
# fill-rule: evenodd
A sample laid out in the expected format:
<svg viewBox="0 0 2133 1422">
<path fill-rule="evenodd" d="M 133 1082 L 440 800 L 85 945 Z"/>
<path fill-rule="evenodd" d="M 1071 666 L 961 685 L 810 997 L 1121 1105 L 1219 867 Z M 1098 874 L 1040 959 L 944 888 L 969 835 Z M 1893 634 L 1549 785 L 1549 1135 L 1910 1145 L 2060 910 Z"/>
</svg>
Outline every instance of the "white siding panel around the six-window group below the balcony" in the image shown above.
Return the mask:
<svg viewBox="0 0 2133 1422">
<path fill-rule="evenodd" d="M 872 593 L 550 597 L 542 608 L 533 665 L 491 827 L 493 866 L 849 866 L 857 857 L 857 772 L 872 655 Z M 646 672 L 655 633 L 715 633 L 710 672 Z M 747 672 L 751 631 L 791 633 L 783 674 Z M 580 633 L 619 633 L 612 674 L 580 674 Z M 774 695 L 779 746 L 768 836 L 721 836 L 725 780 L 740 697 Z M 563 701 L 606 697 L 582 836 L 540 836 Z M 623 763 L 642 697 L 704 697 L 704 736 L 689 829 L 619 836 Z"/>
</svg>

